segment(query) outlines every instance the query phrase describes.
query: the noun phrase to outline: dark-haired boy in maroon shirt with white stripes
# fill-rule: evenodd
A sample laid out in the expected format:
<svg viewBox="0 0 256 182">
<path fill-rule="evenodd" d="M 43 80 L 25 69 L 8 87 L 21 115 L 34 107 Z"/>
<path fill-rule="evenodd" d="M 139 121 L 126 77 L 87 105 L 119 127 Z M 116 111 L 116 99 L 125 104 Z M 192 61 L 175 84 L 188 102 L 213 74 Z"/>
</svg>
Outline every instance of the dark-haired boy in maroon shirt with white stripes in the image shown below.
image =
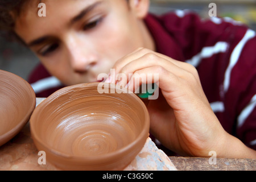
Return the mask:
<svg viewBox="0 0 256 182">
<path fill-rule="evenodd" d="M 49 72 L 67 86 L 99 81 L 111 68 L 158 73 L 161 92 L 147 108 L 164 146 L 184 156 L 256 157 L 254 31 L 187 11 L 158 18 L 148 0 L 45 0 L 46 17 L 38 1 L 0 2 L 2 27 L 42 62 L 33 77 Z"/>
</svg>

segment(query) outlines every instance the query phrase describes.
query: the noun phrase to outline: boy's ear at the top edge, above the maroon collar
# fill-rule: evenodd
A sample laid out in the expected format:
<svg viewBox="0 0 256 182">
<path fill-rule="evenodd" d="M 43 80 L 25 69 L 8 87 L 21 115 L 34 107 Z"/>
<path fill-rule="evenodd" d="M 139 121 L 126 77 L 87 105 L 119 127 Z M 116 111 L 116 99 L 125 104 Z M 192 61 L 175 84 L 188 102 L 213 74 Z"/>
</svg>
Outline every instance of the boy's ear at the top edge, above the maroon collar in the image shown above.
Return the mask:
<svg viewBox="0 0 256 182">
<path fill-rule="evenodd" d="M 135 15 L 143 19 L 148 14 L 150 0 L 129 0 L 130 8 Z"/>
</svg>

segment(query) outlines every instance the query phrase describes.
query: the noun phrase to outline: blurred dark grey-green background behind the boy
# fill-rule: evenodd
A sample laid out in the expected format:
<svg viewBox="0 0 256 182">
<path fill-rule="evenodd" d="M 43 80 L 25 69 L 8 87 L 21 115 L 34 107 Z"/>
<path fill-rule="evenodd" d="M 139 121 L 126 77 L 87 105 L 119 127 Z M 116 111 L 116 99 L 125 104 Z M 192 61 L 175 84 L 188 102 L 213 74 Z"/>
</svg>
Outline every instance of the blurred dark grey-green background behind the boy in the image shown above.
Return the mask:
<svg viewBox="0 0 256 182">
<path fill-rule="evenodd" d="M 216 3 L 217 16 L 228 16 L 256 31 L 256 0 L 151 0 L 150 12 L 161 15 L 168 11 L 189 9 L 201 18 L 209 18 L 209 3 Z M 0 37 L 0 69 L 27 80 L 38 63 L 38 58 L 27 48 Z"/>
</svg>

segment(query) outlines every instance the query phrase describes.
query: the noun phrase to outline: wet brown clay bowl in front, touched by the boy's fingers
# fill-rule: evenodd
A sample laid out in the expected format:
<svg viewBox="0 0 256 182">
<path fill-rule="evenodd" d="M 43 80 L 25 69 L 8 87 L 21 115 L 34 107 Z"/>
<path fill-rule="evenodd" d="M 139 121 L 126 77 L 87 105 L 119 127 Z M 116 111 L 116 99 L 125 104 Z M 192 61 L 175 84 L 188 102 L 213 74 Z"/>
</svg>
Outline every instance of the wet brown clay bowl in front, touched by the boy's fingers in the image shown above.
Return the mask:
<svg viewBox="0 0 256 182">
<path fill-rule="evenodd" d="M 32 139 L 57 168 L 122 170 L 146 142 L 150 121 L 139 97 L 98 84 L 60 89 L 31 115 Z M 98 86 L 108 92 L 99 93 Z"/>
</svg>

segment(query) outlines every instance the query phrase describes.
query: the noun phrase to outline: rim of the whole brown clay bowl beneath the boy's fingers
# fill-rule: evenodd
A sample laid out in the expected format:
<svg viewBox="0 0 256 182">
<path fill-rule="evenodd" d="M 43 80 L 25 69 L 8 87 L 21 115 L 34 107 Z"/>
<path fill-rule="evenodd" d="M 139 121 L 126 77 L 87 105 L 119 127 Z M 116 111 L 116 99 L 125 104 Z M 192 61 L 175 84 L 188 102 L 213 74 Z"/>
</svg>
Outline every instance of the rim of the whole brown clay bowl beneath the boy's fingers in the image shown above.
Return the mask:
<svg viewBox="0 0 256 182">
<path fill-rule="evenodd" d="M 127 144 L 126 146 L 119 148 L 118 150 L 106 153 L 106 154 L 100 154 L 100 155 L 88 155 L 88 156 L 76 156 L 76 155 L 71 155 L 71 154 L 65 154 L 64 152 L 61 151 L 57 151 L 56 149 L 53 149 L 51 147 L 48 146 L 47 142 L 45 142 L 44 140 L 42 140 L 39 135 L 35 132 L 35 125 L 36 123 L 34 122 L 38 122 L 36 120 L 36 115 L 38 114 L 39 110 L 42 109 L 43 106 L 47 105 L 47 104 L 51 104 L 52 101 L 56 100 L 56 96 L 60 95 L 60 94 L 66 94 L 67 90 L 72 90 L 75 88 L 80 88 L 82 87 L 88 87 L 88 86 L 98 86 L 99 82 L 90 82 L 90 83 L 85 83 L 85 84 L 76 84 L 76 85 L 72 85 L 72 86 L 66 86 L 65 88 L 59 89 L 57 90 L 55 93 L 51 94 L 51 96 L 47 97 L 44 101 L 42 101 L 34 110 L 34 112 L 31 115 L 31 119 L 30 119 L 30 130 L 31 130 L 31 137 L 33 140 L 36 140 L 36 142 L 38 142 L 40 144 L 40 146 L 42 146 L 43 148 L 45 148 L 46 150 L 48 150 L 49 152 L 51 152 L 52 155 L 55 155 L 59 158 L 64 158 L 64 159 L 72 159 L 72 160 L 77 160 L 81 162 L 85 162 L 85 161 L 90 161 L 90 162 L 98 162 L 102 159 L 106 159 L 109 158 L 110 160 L 113 158 L 117 158 L 117 156 L 119 158 L 122 158 L 123 154 L 127 151 L 129 151 L 131 148 L 133 148 L 133 146 L 135 146 L 136 144 L 140 143 L 143 141 L 143 145 L 146 142 L 146 139 L 149 135 L 149 127 L 150 127 L 150 117 L 147 111 L 147 107 L 146 105 L 144 105 L 143 101 L 134 93 L 129 93 L 132 98 L 134 98 L 134 100 L 137 100 L 138 103 L 141 104 L 142 108 L 143 108 L 143 112 L 144 112 L 144 125 L 142 126 L 142 132 L 139 133 L 139 135 L 133 140 L 133 142 Z M 115 86 L 115 84 L 110 84 L 110 86 Z M 117 89 L 115 87 L 115 89 Z M 119 89 L 119 90 L 123 90 L 123 89 Z M 147 136 L 147 137 L 145 137 Z M 143 145 L 141 146 L 141 149 L 143 148 Z"/>
</svg>

